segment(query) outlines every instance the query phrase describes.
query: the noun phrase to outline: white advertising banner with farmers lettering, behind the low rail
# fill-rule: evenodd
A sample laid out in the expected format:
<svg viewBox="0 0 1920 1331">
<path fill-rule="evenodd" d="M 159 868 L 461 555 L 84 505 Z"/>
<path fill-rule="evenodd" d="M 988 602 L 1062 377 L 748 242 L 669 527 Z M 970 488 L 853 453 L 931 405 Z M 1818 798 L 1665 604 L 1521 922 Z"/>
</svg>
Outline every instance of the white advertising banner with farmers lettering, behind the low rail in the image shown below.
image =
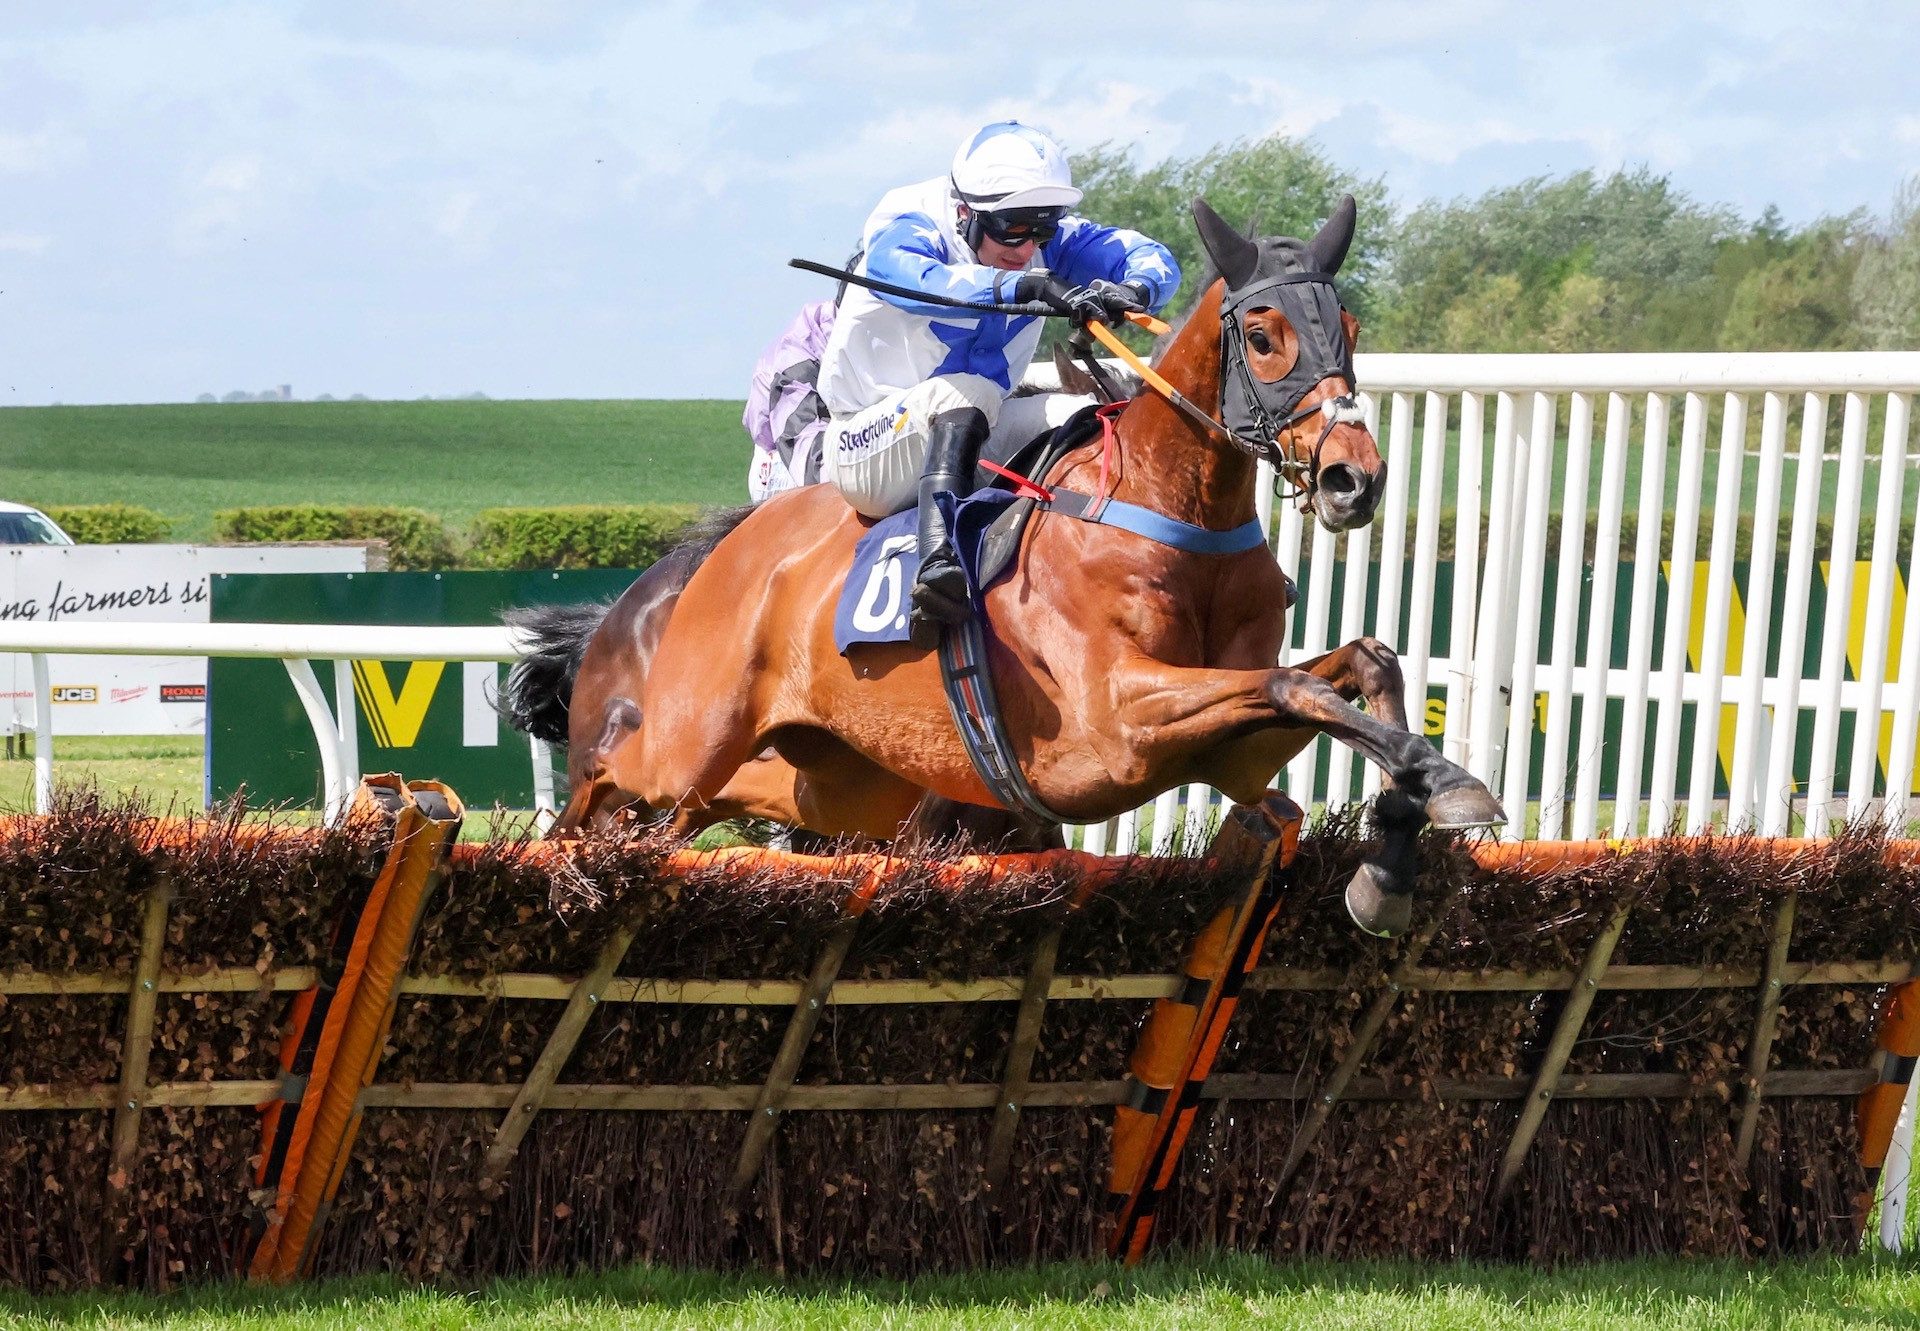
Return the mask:
<svg viewBox="0 0 1920 1331">
<path fill-rule="evenodd" d="M 209 580 L 232 572 L 363 572 L 357 545 L 0 545 L 0 620 L 205 624 Z M 196 736 L 198 657 L 52 655 L 56 736 Z M 0 734 L 33 730 L 33 663 L 0 653 Z"/>
</svg>

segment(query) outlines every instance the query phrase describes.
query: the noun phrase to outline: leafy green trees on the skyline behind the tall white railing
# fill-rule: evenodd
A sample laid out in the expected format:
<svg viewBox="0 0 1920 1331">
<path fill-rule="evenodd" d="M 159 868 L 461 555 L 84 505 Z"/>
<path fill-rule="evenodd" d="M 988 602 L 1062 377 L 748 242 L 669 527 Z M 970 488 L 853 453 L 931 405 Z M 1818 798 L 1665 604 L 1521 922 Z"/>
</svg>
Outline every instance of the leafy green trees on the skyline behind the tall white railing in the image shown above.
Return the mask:
<svg viewBox="0 0 1920 1331">
<path fill-rule="evenodd" d="M 1081 209 L 1164 240 L 1204 269 L 1187 211 L 1204 194 L 1260 234 L 1311 236 L 1359 204 L 1342 296 L 1371 351 L 1824 351 L 1920 348 L 1920 175 L 1885 215 L 1789 227 L 1695 200 L 1644 167 L 1536 177 L 1400 213 L 1384 182 L 1313 144 L 1244 140 L 1137 165 L 1075 154 Z M 1190 303 L 1188 280 L 1177 309 Z"/>
</svg>

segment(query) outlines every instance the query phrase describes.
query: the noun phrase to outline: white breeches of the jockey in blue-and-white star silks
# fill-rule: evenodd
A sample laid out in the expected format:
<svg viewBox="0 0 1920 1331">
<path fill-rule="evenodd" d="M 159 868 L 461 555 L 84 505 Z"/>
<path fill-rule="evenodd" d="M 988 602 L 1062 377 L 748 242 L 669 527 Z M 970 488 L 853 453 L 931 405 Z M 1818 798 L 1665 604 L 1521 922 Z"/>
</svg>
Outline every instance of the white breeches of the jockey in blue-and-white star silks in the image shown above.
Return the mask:
<svg viewBox="0 0 1920 1331">
<path fill-rule="evenodd" d="M 822 478 L 839 486 L 864 517 L 887 517 L 914 507 L 920 469 L 927 459 L 927 428 L 945 411 L 973 407 L 993 426 L 989 449 L 1020 448 L 1066 423 L 1092 398 L 1037 394 L 1006 398 L 979 375 L 937 375 L 872 407 L 828 423 Z"/>
</svg>

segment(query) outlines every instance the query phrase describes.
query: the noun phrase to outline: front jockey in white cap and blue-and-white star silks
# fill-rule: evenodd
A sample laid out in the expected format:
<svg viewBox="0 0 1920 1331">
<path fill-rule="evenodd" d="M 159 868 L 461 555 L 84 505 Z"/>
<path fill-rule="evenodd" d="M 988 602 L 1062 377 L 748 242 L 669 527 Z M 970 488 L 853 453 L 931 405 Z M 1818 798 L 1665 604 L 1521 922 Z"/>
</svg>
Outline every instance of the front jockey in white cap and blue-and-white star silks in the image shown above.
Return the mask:
<svg viewBox="0 0 1920 1331">
<path fill-rule="evenodd" d="M 970 303 L 1044 302 L 1077 321 L 1156 311 L 1181 282 L 1173 254 L 1137 230 L 1071 213 L 1066 154 L 1018 121 L 987 125 L 952 171 L 879 200 L 858 273 Z M 912 640 L 972 605 L 937 494 L 966 494 L 989 436 L 1016 448 L 1064 423 L 1083 398 L 1014 398 L 1041 319 L 977 313 L 849 286 L 820 361 L 831 421 L 822 472 L 866 517 L 920 503 Z"/>
</svg>

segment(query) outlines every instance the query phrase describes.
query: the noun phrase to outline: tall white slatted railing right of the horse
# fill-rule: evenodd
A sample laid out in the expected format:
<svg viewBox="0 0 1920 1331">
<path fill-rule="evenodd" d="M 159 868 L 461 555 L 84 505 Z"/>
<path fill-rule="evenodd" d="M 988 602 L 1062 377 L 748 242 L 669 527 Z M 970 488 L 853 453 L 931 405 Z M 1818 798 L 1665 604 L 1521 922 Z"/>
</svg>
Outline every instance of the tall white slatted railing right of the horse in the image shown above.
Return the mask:
<svg viewBox="0 0 1920 1331">
<path fill-rule="evenodd" d="M 1363 634 L 1396 647 L 1409 714 L 1419 724 L 1432 686 L 1436 739 L 1501 795 L 1505 835 L 1532 830 L 1530 807 L 1542 837 L 1818 835 L 1836 818 L 1908 816 L 1920 609 L 1905 609 L 1916 555 L 1899 545 L 1920 524 L 1920 353 L 1361 355 L 1357 375 L 1390 463 L 1373 526 L 1336 538 L 1261 503 L 1281 565 L 1308 570 L 1288 659 Z M 1645 520 L 1620 559 L 1630 515 Z M 1281 784 L 1338 805 L 1354 768 L 1319 739 Z M 1357 793 L 1377 789 L 1367 768 Z M 1213 803 L 1187 787 L 1081 839 L 1162 845 Z"/>
</svg>

